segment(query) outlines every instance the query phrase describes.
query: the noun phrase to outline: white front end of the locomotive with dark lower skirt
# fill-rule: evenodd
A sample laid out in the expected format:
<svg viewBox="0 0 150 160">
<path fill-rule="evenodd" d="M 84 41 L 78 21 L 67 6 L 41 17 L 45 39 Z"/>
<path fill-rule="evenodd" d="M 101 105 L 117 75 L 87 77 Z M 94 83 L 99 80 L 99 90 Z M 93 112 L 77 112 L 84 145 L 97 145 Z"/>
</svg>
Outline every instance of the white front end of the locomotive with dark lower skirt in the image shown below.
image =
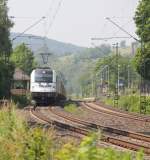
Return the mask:
<svg viewBox="0 0 150 160">
<path fill-rule="evenodd" d="M 56 97 L 56 74 L 51 69 L 35 69 L 31 73 L 32 99 L 46 104 Z"/>
</svg>

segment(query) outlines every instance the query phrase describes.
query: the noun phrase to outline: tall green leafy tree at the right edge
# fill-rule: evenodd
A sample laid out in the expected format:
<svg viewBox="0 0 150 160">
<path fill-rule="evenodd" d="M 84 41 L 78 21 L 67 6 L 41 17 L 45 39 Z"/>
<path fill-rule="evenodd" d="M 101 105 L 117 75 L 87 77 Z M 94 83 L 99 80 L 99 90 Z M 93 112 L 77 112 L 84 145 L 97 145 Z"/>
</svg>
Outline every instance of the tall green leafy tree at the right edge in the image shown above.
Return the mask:
<svg viewBox="0 0 150 160">
<path fill-rule="evenodd" d="M 150 1 L 141 0 L 136 13 L 135 23 L 137 34 L 143 44 L 141 49 L 137 50 L 134 64 L 138 73 L 147 80 L 150 80 Z"/>
</svg>

